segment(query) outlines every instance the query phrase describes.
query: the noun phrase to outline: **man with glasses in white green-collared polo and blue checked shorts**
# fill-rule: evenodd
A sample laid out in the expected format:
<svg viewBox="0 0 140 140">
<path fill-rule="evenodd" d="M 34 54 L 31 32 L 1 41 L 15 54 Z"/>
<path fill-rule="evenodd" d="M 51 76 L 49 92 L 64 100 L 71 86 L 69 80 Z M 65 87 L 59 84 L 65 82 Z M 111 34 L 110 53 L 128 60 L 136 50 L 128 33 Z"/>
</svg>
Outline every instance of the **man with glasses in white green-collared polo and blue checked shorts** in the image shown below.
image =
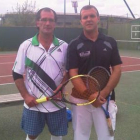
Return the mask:
<svg viewBox="0 0 140 140">
<path fill-rule="evenodd" d="M 50 8 L 37 12 L 39 33 L 20 45 L 13 66 L 15 84 L 25 101 L 21 127 L 27 134 L 26 140 L 37 140 L 45 123 L 51 140 L 61 140 L 67 134 L 65 105 L 54 101 L 36 102 L 38 98 L 52 95 L 67 75 L 67 43 L 54 36 L 56 20 L 56 13 Z"/>
</svg>

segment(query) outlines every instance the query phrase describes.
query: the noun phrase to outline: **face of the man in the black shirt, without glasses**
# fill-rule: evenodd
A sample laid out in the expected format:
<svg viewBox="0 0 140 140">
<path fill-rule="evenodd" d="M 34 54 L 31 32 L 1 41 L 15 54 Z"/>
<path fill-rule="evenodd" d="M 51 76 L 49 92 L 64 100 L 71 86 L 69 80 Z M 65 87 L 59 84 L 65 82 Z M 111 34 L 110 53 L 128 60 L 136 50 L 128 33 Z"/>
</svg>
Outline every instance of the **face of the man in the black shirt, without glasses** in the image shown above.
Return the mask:
<svg viewBox="0 0 140 140">
<path fill-rule="evenodd" d="M 97 16 L 97 11 L 94 8 L 81 11 L 81 25 L 84 31 L 91 32 L 98 29 L 98 23 L 100 21 Z"/>
</svg>

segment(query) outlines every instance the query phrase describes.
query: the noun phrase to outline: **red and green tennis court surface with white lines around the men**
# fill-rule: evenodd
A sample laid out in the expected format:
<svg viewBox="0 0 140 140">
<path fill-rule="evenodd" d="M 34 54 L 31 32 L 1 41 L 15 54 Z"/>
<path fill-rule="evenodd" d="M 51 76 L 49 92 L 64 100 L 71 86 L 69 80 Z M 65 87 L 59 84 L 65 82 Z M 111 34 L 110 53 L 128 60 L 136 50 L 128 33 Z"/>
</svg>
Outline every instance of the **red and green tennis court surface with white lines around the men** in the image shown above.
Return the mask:
<svg viewBox="0 0 140 140">
<path fill-rule="evenodd" d="M 115 140 L 140 140 L 140 51 L 120 50 L 123 60 L 122 77 L 116 88 L 118 105 Z M 0 53 L 0 95 L 18 93 L 12 79 L 16 52 Z M 20 128 L 22 105 L 0 108 L 0 139 L 25 140 Z M 94 131 L 94 128 L 93 128 Z M 91 139 L 96 140 L 92 131 Z M 39 140 L 49 140 L 47 127 Z M 73 140 L 72 124 L 63 140 Z"/>
</svg>

